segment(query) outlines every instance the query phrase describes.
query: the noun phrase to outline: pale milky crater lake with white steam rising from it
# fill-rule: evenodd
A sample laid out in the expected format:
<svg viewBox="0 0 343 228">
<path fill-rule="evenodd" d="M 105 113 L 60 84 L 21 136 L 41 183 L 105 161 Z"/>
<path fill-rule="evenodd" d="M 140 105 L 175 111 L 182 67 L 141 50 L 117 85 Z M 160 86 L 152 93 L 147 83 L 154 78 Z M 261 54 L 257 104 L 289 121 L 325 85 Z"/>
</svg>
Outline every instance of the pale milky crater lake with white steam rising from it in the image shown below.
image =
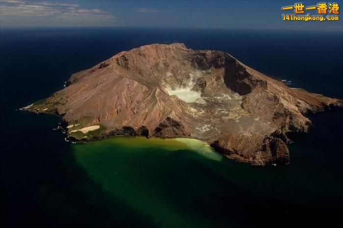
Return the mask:
<svg viewBox="0 0 343 228">
<path fill-rule="evenodd" d="M 197 74 L 189 74 L 191 79 L 187 86 L 178 87 L 174 90 L 167 90 L 169 95 L 176 95 L 179 99 L 191 103 L 195 102 L 196 99 L 201 97 L 201 93 L 191 90 L 195 86 L 195 77 Z"/>
</svg>

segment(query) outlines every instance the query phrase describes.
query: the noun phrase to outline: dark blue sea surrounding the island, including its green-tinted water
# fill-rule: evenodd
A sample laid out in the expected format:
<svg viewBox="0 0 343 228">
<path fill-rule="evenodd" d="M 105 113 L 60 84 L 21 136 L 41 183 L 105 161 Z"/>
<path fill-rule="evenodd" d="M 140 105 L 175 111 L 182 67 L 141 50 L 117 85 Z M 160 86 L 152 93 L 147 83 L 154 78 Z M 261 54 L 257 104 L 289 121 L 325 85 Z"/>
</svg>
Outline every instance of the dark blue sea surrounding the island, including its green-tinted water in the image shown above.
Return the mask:
<svg viewBox="0 0 343 228">
<path fill-rule="evenodd" d="M 291 86 L 343 98 L 343 32 L 179 28 L 0 30 L 1 227 L 337 227 L 343 111 L 291 133 L 291 164 L 238 163 L 192 140 L 70 144 L 60 118 L 18 110 L 71 74 L 153 43 L 227 51 Z"/>
</svg>

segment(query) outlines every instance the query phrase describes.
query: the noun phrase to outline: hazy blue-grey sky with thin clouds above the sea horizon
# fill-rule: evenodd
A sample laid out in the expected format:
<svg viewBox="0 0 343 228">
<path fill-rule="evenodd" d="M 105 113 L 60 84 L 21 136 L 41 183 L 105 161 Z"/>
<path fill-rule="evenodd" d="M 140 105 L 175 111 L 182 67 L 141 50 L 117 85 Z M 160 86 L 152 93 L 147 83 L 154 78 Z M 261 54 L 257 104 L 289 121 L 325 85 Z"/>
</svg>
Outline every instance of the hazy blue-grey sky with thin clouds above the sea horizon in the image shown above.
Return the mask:
<svg viewBox="0 0 343 228">
<path fill-rule="evenodd" d="M 285 11 L 282 11 L 281 7 L 297 2 L 299 1 L 0 0 L 0 26 L 343 30 L 341 18 L 338 22 L 283 22 L 281 15 Z M 301 2 L 307 6 L 315 5 L 323 0 Z M 343 7 L 342 0 L 335 2 Z M 310 13 L 316 14 L 316 11 Z"/>
</svg>

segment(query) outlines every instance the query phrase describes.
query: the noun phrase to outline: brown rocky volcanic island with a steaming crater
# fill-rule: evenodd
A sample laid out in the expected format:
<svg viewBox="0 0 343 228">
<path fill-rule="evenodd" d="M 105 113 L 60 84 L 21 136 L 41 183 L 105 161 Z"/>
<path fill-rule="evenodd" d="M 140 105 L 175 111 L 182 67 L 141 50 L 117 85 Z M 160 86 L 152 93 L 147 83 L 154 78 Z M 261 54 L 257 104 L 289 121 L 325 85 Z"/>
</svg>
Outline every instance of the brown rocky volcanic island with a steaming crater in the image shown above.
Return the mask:
<svg viewBox="0 0 343 228">
<path fill-rule="evenodd" d="M 289 162 L 284 133 L 307 131 L 311 121 L 304 114 L 343 106 L 289 88 L 228 53 L 177 43 L 120 52 L 73 74 L 67 85 L 23 109 L 63 116 L 75 140 L 190 137 L 258 165 Z"/>
</svg>

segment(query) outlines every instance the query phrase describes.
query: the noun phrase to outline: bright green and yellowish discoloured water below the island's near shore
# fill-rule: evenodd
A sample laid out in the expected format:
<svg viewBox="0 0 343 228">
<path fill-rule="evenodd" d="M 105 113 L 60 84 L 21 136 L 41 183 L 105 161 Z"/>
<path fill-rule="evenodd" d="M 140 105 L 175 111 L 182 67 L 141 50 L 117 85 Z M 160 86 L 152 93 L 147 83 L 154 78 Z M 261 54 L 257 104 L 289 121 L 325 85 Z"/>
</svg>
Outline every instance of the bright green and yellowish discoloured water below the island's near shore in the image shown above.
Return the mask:
<svg viewBox="0 0 343 228">
<path fill-rule="evenodd" d="M 211 227 L 196 210 L 186 209 L 190 202 L 201 201 L 204 189 L 196 189 L 198 184 L 205 189 L 216 185 L 209 179 L 201 183 L 203 175 L 190 167 L 211 166 L 222 159 L 201 141 L 115 137 L 75 145 L 74 151 L 76 160 L 108 193 L 156 226 Z"/>
</svg>

